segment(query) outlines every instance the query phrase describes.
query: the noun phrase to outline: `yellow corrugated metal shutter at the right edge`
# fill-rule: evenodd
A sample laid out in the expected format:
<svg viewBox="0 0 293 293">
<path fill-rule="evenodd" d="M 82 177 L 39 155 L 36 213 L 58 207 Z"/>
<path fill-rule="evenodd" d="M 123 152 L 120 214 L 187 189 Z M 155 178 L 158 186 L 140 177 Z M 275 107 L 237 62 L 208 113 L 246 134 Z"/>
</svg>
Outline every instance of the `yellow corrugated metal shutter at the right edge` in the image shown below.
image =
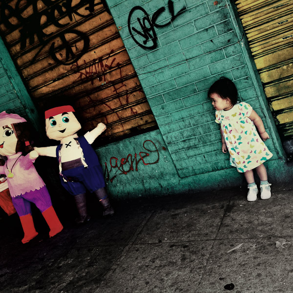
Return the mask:
<svg viewBox="0 0 293 293">
<path fill-rule="evenodd" d="M 238 0 L 235 4 L 281 139 L 292 142 L 293 1 Z"/>
</svg>

